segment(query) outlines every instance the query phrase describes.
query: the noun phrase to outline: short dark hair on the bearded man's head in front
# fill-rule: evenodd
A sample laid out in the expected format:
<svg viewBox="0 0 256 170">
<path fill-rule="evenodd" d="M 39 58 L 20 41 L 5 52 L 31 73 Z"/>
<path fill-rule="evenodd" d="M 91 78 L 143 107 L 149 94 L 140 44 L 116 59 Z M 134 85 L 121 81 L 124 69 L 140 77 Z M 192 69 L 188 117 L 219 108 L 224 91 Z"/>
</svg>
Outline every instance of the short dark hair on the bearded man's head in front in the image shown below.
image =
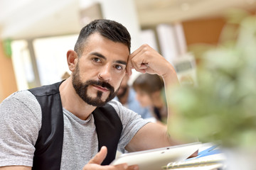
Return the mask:
<svg viewBox="0 0 256 170">
<path fill-rule="evenodd" d="M 131 48 L 131 36 L 127 28 L 122 26 L 121 23 L 116 21 L 111 21 L 107 19 L 97 19 L 90 22 L 82 28 L 78 36 L 78 40 L 75 43 L 75 52 L 78 53 L 78 56 L 82 55 L 83 48 L 87 38 L 92 35 L 92 33 L 100 33 L 103 37 L 113 42 L 121 42 L 124 45 L 127 45 L 129 52 Z"/>
</svg>

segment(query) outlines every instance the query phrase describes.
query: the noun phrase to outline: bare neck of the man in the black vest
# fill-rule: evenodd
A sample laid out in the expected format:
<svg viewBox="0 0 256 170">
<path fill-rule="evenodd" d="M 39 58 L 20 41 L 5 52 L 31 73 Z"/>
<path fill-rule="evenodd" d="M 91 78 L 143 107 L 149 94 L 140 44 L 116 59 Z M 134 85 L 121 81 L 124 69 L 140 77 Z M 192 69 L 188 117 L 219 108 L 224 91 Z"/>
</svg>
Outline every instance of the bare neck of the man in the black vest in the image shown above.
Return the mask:
<svg viewBox="0 0 256 170">
<path fill-rule="evenodd" d="M 63 108 L 73 113 L 81 120 L 87 120 L 95 106 L 88 105 L 76 94 L 71 78 L 60 84 L 60 98 Z"/>
</svg>

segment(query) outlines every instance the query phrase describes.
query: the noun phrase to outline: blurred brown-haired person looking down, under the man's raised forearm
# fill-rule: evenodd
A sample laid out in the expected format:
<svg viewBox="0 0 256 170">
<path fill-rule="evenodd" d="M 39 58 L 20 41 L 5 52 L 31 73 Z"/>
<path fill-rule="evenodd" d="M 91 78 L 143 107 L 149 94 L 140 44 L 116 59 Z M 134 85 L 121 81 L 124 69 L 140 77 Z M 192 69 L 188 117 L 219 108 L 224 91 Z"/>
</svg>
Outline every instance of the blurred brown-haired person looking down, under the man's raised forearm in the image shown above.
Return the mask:
<svg viewBox="0 0 256 170">
<path fill-rule="evenodd" d="M 132 86 L 140 105 L 149 107 L 156 120 L 166 124 L 168 112 L 163 79 L 157 74 L 140 74 Z"/>
</svg>

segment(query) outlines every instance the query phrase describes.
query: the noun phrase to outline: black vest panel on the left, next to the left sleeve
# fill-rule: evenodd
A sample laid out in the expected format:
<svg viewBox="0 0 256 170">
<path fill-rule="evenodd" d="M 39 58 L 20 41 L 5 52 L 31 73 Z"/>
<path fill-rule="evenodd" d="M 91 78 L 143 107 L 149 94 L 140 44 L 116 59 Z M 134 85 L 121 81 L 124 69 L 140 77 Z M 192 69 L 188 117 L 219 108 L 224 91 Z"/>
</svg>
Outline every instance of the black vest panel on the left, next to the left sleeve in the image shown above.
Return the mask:
<svg viewBox="0 0 256 170">
<path fill-rule="evenodd" d="M 42 110 L 42 126 L 36 141 L 33 170 L 60 169 L 63 149 L 63 106 L 60 100 L 61 82 L 30 89 Z"/>
</svg>

